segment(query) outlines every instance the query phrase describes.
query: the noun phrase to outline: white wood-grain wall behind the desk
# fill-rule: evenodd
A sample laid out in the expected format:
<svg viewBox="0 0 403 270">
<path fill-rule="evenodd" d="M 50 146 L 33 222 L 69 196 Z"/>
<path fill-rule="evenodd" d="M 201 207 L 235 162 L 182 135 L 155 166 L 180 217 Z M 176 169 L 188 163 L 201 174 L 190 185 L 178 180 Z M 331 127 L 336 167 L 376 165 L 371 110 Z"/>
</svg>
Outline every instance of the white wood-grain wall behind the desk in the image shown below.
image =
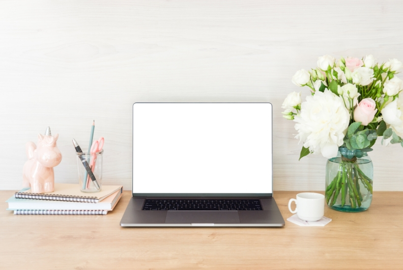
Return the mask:
<svg viewBox="0 0 403 270">
<path fill-rule="evenodd" d="M 281 104 L 317 57 L 403 60 L 391 1 L 0 1 L 0 189 L 20 189 L 25 143 L 60 135 L 56 182 L 76 183 L 74 137 L 105 137 L 104 184 L 131 188 L 134 102 L 271 102 L 274 190 L 323 190 L 326 159 L 298 162 Z M 401 76 L 402 77 L 402 76 Z M 308 90 L 303 90 L 304 96 Z M 403 149 L 378 143 L 375 190 L 403 190 Z"/>
</svg>

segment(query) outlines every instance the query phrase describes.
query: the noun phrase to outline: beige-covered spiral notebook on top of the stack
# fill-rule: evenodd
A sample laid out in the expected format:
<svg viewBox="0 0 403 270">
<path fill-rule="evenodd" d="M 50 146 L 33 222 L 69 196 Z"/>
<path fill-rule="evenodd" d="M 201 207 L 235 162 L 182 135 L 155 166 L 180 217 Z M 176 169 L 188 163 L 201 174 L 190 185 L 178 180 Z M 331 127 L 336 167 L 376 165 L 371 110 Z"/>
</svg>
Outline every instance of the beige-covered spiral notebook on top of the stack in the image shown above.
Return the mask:
<svg viewBox="0 0 403 270">
<path fill-rule="evenodd" d="M 99 192 L 84 193 L 80 191 L 80 186 L 78 184 L 55 183 L 55 191 L 53 192 L 30 193 L 30 188 L 26 188 L 15 192 L 14 197 L 21 199 L 97 203 L 119 189 L 122 189 L 122 186 L 103 185 Z"/>
</svg>

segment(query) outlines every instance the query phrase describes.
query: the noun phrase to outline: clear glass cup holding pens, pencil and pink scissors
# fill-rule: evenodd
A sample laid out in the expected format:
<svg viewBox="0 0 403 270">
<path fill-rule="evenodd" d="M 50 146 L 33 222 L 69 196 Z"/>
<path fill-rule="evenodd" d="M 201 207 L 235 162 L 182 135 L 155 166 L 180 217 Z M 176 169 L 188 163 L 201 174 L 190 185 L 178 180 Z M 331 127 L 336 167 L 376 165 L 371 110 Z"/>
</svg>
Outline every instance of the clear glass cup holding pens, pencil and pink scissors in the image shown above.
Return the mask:
<svg viewBox="0 0 403 270">
<path fill-rule="evenodd" d="M 88 153 L 88 151 L 84 151 L 83 153 L 76 152 L 78 179 L 82 192 L 92 193 L 101 191 L 103 153 L 103 149 L 94 153 Z"/>
</svg>

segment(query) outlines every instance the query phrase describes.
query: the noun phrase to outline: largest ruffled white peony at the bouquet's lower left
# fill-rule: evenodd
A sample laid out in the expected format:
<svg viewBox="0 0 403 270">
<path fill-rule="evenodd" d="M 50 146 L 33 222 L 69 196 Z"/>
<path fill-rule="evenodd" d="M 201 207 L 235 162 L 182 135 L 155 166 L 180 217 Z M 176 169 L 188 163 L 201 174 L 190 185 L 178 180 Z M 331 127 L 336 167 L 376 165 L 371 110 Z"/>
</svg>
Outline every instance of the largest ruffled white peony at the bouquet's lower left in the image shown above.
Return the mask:
<svg viewBox="0 0 403 270">
<path fill-rule="evenodd" d="M 343 142 L 350 114 L 342 99 L 330 90 L 315 92 L 301 104 L 301 112 L 294 117 L 296 138 L 304 142 L 314 154 L 325 158 L 336 157 Z"/>
</svg>

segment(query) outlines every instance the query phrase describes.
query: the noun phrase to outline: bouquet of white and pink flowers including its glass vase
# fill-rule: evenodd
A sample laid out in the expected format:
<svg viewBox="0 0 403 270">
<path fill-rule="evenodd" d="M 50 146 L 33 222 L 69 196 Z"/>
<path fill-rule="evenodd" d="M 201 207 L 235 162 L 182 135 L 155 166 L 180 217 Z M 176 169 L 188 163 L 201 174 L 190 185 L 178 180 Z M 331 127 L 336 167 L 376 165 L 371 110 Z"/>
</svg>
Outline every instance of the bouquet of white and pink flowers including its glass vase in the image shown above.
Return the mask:
<svg viewBox="0 0 403 270">
<path fill-rule="evenodd" d="M 403 146 L 403 81 L 397 59 L 377 63 L 330 55 L 318 58 L 317 68 L 301 69 L 292 77 L 311 95 L 288 94 L 283 116 L 295 122 L 303 142 L 300 158 L 320 153 L 326 164 L 325 197 L 329 207 L 347 212 L 368 209 L 372 201 L 373 166 L 368 152 L 378 137 L 383 145 Z"/>
</svg>

